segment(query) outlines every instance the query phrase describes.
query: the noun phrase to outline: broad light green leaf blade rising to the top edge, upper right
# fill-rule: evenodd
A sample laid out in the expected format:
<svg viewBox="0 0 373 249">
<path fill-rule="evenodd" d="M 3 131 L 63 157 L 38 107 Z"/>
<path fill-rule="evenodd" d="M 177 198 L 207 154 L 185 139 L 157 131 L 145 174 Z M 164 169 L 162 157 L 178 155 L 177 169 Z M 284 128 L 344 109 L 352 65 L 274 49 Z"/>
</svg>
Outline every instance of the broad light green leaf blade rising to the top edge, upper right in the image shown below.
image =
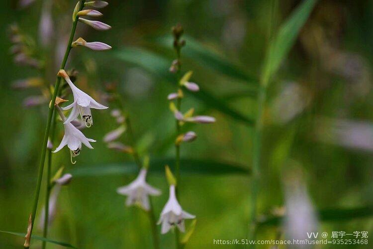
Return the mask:
<svg viewBox="0 0 373 249">
<path fill-rule="evenodd" d="M 262 82 L 266 86 L 277 72 L 290 48 L 294 45 L 301 27 L 310 15 L 317 0 L 304 0 L 280 26 L 279 32 L 271 42 L 264 64 Z"/>
</svg>

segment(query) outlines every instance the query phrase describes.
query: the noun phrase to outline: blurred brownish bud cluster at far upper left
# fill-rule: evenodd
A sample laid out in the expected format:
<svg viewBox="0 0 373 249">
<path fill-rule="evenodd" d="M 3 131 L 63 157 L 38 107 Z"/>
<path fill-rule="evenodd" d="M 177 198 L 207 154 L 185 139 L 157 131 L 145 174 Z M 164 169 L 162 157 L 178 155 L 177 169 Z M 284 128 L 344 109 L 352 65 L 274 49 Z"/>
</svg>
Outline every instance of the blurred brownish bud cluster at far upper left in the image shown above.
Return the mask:
<svg viewBox="0 0 373 249">
<path fill-rule="evenodd" d="M 40 69 L 42 64 L 34 54 L 35 41 L 23 34 L 17 24 L 12 24 L 9 27 L 9 38 L 12 43 L 10 53 L 14 55 L 13 61 L 18 65 L 30 66 Z"/>
</svg>

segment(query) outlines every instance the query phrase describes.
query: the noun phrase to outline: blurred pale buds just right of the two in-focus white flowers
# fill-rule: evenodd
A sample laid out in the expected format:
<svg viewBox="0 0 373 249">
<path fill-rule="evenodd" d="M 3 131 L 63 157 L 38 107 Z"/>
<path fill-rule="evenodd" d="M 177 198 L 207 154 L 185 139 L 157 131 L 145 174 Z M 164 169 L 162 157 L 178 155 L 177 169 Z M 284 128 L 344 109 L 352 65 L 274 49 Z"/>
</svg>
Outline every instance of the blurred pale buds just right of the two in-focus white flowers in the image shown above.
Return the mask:
<svg viewBox="0 0 373 249">
<path fill-rule="evenodd" d="M 119 139 L 127 130 L 127 126 L 125 124 L 125 116 L 119 109 L 112 110 L 110 114 L 113 118 L 115 118 L 116 123 L 119 124 L 119 126 L 113 129 L 112 131 L 108 132 L 103 137 L 103 141 L 106 143 L 109 149 L 114 149 L 120 152 L 132 154 L 133 148 L 131 146 L 123 144 L 120 141 L 117 141 L 117 139 Z"/>
</svg>

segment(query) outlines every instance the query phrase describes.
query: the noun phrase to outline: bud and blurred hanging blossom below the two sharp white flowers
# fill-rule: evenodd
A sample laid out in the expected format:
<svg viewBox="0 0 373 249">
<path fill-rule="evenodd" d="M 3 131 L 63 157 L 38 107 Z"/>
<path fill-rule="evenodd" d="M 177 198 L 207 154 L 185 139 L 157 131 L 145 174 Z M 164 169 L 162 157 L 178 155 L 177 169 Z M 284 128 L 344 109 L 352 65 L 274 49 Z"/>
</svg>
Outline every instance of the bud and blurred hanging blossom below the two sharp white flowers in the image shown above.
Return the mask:
<svg viewBox="0 0 373 249">
<path fill-rule="evenodd" d="M 49 182 L 49 188 L 52 194 L 51 194 L 51 197 L 49 198 L 49 205 L 48 205 L 48 226 L 51 226 L 51 224 L 54 221 L 54 218 L 56 217 L 57 199 L 58 199 L 58 195 L 60 193 L 61 187 L 69 185 L 71 182 L 71 179 L 73 178 L 73 176 L 69 173 L 62 175 L 63 170 L 64 170 L 64 167 L 61 167 L 59 170 L 57 170 L 56 174 Z M 40 221 L 39 221 L 40 230 L 43 229 L 44 221 L 45 221 L 45 207 L 42 209 L 42 212 L 40 215 Z"/>
</svg>

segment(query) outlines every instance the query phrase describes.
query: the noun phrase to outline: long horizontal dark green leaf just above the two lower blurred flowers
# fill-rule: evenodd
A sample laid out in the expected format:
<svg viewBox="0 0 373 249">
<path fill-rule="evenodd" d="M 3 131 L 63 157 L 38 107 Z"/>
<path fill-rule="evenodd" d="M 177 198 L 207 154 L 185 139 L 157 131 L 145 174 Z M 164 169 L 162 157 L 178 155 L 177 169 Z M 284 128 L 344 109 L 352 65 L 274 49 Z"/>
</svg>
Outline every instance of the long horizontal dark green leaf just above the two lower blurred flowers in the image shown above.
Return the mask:
<svg viewBox="0 0 373 249">
<path fill-rule="evenodd" d="M 165 173 L 165 165 L 174 168 L 175 158 L 150 160 L 149 171 L 159 174 Z M 181 172 L 191 174 L 224 175 L 224 174 L 249 174 L 251 171 L 241 165 L 212 160 L 181 159 Z M 82 166 L 73 168 L 70 173 L 74 177 L 103 176 L 119 174 L 137 174 L 138 167 L 133 162 L 120 162 L 99 164 L 95 166 Z"/>
</svg>

